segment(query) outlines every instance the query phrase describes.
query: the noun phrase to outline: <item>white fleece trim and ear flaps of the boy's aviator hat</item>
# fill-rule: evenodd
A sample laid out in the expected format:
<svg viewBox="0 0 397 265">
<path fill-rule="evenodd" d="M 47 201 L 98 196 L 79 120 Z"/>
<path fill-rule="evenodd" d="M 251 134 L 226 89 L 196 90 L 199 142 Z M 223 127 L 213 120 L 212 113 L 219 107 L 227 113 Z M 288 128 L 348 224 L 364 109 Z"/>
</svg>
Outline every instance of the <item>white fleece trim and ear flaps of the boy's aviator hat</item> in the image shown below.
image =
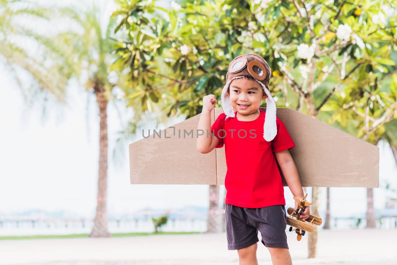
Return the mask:
<svg viewBox="0 0 397 265">
<path fill-rule="evenodd" d="M 235 117 L 235 109 L 230 104 L 230 95 L 227 93 L 227 88 L 229 87 L 230 82 L 233 79 L 236 78 L 241 78 L 241 77 L 234 77 L 230 79 L 229 81 L 226 82 L 224 88 L 222 89 L 222 94 L 221 94 L 221 105 L 224 113 L 228 117 Z M 277 124 L 276 124 L 276 102 L 274 101 L 272 95 L 270 94 L 269 90 L 266 88 L 266 86 L 259 82 L 258 80 L 255 80 L 259 84 L 262 85 L 262 88 L 265 92 L 265 94 L 268 96 L 266 98 L 266 115 L 265 115 L 265 122 L 263 124 L 263 138 L 270 142 L 271 140 L 274 139 L 274 137 L 277 134 Z"/>
</svg>

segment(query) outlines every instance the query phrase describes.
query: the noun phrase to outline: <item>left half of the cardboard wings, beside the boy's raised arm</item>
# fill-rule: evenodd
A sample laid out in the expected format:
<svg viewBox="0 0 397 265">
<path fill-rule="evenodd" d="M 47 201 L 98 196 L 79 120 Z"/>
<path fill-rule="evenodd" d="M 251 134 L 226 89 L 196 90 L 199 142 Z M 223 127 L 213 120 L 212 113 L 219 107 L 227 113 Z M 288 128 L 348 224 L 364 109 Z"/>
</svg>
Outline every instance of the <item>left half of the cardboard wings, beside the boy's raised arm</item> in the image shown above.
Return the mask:
<svg viewBox="0 0 397 265">
<path fill-rule="evenodd" d="M 214 118 L 212 110 L 211 124 Z M 216 184 L 216 151 L 208 154 L 197 151 L 199 119 L 200 115 L 196 115 L 172 125 L 175 135 L 173 128 L 165 128 L 161 134 L 160 130 L 156 134 L 150 129 L 148 138 L 130 144 L 131 184 Z M 149 134 L 148 130 L 139 133 L 145 137 Z"/>
</svg>

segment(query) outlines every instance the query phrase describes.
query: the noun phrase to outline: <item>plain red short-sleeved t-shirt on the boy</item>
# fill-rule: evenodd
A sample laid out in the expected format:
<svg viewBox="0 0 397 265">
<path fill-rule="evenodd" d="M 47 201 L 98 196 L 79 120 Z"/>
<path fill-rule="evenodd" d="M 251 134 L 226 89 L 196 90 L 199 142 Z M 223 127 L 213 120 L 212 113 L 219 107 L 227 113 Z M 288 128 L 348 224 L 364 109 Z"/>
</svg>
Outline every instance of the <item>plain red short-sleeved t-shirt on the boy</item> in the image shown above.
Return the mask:
<svg viewBox="0 0 397 265">
<path fill-rule="evenodd" d="M 226 115 L 222 113 L 211 126 L 211 132 L 219 139 L 216 148 L 225 144 L 225 204 L 247 208 L 285 205 L 274 152 L 293 148 L 295 144 L 277 117 L 276 137 L 267 142 L 263 138 L 265 112 L 259 110 L 260 115 L 254 121 L 239 121 L 236 116 L 225 120 Z M 222 129 L 225 131 L 220 131 Z"/>
</svg>

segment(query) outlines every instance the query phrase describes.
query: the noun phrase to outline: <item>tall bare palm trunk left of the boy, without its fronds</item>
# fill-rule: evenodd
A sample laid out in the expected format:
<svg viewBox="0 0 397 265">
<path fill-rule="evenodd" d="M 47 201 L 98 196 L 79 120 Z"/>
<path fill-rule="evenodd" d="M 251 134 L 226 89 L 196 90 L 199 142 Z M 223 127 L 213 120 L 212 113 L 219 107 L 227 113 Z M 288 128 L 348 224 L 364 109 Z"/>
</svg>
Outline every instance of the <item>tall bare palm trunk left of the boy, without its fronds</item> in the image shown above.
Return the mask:
<svg viewBox="0 0 397 265">
<path fill-rule="evenodd" d="M 99 107 L 99 171 L 98 171 L 98 196 L 96 198 L 96 214 L 94 219 L 94 227 L 90 237 L 109 237 L 108 219 L 106 215 L 106 196 L 108 187 L 108 125 L 106 100 L 104 92 L 101 89 L 94 88 L 96 100 Z"/>
</svg>

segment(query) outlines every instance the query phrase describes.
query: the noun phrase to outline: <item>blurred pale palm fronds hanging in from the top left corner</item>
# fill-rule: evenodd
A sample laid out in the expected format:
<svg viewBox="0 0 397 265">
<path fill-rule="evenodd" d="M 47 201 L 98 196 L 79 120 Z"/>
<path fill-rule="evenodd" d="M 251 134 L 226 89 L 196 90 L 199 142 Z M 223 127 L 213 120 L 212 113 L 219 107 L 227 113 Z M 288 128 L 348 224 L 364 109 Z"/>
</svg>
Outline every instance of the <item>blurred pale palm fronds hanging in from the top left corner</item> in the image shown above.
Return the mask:
<svg viewBox="0 0 397 265">
<path fill-rule="evenodd" d="M 47 23 L 51 28 L 50 20 L 55 21 L 56 18 L 54 10 L 30 2 L 0 0 L 0 55 L 5 59 L 10 73 L 14 74 L 29 105 L 39 93 L 52 95 L 65 103 L 64 92 L 73 73 L 74 62 L 71 50 L 64 47 L 70 43 L 71 35 L 60 33 L 50 37 L 29 29 L 26 23 Z M 19 69 L 30 73 L 35 85 L 24 88 L 17 75 Z"/>
</svg>

